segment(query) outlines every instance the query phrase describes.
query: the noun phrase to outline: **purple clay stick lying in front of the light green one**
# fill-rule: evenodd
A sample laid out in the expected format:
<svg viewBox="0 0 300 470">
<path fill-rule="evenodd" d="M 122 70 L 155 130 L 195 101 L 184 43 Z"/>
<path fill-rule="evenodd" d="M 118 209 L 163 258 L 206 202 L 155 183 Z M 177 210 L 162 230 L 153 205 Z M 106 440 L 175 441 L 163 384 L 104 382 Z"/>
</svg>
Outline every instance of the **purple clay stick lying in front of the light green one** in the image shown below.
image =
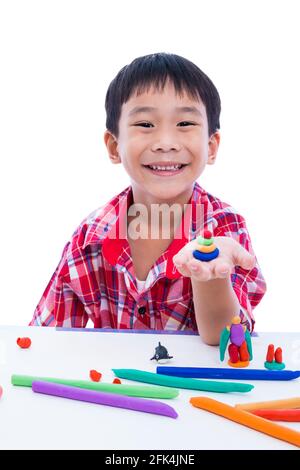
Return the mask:
<svg viewBox="0 0 300 470">
<path fill-rule="evenodd" d="M 144 411 L 170 418 L 177 418 L 178 414 L 171 406 L 160 401 L 147 400 L 145 398 L 128 397 L 115 393 L 98 392 L 79 387 L 70 387 L 52 382 L 32 382 L 32 390 L 36 393 L 54 395 L 57 397 L 70 398 L 71 400 L 97 403 L 98 405 L 114 406 L 135 411 Z"/>
</svg>

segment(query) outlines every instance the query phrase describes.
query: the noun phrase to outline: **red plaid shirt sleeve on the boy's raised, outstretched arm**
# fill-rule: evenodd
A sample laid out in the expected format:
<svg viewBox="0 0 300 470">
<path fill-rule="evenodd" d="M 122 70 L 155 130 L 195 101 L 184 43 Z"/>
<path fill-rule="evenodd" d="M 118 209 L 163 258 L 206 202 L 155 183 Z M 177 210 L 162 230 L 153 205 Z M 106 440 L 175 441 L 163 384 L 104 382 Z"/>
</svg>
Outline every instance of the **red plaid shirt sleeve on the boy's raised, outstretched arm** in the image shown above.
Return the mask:
<svg viewBox="0 0 300 470">
<path fill-rule="evenodd" d="M 231 237 L 255 256 L 245 219 L 241 215 L 229 207 L 214 215 L 214 219 L 217 222 L 215 236 Z M 253 331 L 255 324 L 253 309 L 266 292 L 266 282 L 256 256 L 255 259 L 256 264 L 251 271 L 236 266 L 231 274 L 232 286 L 241 307 L 241 321 L 250 331 Z"/>
</svg>

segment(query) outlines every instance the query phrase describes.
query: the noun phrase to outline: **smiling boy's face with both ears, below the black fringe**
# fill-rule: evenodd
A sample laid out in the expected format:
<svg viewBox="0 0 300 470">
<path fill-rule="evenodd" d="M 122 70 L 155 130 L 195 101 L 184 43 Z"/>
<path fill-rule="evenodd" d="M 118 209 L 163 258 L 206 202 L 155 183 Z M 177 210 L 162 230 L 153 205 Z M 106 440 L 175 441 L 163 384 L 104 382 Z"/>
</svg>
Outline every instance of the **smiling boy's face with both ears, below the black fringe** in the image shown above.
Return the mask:
<svg viewBox="0 0 300 470">
<path fill-rule="evenodd" d="M 214 163 L 219 138 L 218 132 L 208 135 L 202 101 L 176 94 L 171 83 L 162 92 L 134 94 L 122 106 L 118 138 L 108 131 L 104 136 L 111 161 L 123 163 L 138 202 L 190 196 L 205 165 Z M 166 171 L 149 165 L 184 166 Z"/>
</svg>

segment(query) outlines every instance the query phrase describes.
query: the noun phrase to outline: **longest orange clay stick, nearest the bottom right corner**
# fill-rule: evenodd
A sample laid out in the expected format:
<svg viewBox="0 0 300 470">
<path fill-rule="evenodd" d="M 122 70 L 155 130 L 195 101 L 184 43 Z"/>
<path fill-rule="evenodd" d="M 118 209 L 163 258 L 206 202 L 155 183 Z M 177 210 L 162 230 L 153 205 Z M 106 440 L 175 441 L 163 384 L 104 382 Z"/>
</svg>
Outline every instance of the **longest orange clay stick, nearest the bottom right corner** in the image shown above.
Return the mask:
<svg viewBox="0 0 300 470">
<path fill-rule="evenodd" d="M 247 426 L 248 428 L 255 429 L 256 431 L 300 447 L 300 432 L 294 429 L 286 428 L 272 421 L 268 421 L 267 419 L 255 416 L 252 413 L 248 413 L 247 411 L 213 400 L 212 398 L 193 397 L 190 399 L 190 403 L 197 408 L 210 411 L 211 413 L 223 416 L 243 426 Z"/>
</svg>

